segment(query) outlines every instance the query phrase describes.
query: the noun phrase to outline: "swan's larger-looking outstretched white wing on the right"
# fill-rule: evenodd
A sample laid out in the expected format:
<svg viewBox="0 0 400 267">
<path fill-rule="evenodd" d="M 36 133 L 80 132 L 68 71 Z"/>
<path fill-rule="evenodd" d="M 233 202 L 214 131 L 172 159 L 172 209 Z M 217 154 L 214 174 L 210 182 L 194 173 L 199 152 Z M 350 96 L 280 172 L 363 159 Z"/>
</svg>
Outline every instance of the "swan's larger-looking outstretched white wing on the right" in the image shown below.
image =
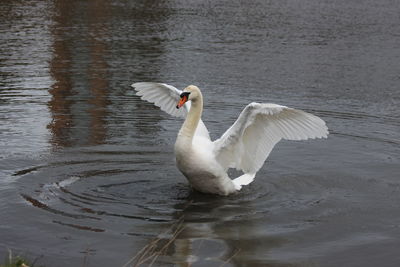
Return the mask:
<svg viewBox="0 0 400 267">
<path fill-rule="evenodd" d="M 325 122 L 310 113 L 276 104 L 251 103 L 214 142 L 224 168 L 256 173 L 281 139 L 306 140 L 328 135 Z"/>
</svg>

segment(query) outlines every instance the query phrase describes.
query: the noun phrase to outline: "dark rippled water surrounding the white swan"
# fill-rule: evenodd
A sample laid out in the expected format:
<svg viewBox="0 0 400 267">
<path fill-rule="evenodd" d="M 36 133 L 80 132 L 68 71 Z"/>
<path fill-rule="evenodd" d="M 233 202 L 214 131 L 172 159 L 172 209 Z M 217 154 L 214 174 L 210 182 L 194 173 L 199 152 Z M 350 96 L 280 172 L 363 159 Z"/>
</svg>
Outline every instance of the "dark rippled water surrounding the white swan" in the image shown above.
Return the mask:
<svg viewBox="0 0 400 267">
<path fill-rule="evenodd" d="M 153 266 L 399 266 L 399 14 L 391 0 L 3 0 L 0 258 L 123 266 L 159 238 Z M 279 143 L 237 195 L 202 195 L 174 165 L 182 121 L 135 81 L 198 85 L 213 138 L 251 101 L 312 112 L 331 135 Z"/>
</svg>

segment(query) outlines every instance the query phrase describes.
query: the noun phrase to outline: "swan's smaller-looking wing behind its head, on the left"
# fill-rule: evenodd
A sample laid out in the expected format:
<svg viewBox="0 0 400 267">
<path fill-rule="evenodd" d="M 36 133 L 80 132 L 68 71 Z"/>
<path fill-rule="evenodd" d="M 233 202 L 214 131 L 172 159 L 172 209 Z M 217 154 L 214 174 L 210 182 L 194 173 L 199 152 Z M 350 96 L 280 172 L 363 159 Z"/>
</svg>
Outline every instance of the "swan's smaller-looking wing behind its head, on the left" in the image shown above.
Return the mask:
<svg viewBox="0 0 400 267">
<path fill-rule="evenodd" d="M 154 103 L 161 110 L 175 117 L 186 117 L 190 109 L 190 104 L 186 103 L 185 108 L 176 108 L 176 103 L 179 101 L 181 90 L 176 89 L 172 85 L 165 83 L 139 82 L 132 84 L 136 94 L 141 99 L 150 103 Z"/>
</svg>

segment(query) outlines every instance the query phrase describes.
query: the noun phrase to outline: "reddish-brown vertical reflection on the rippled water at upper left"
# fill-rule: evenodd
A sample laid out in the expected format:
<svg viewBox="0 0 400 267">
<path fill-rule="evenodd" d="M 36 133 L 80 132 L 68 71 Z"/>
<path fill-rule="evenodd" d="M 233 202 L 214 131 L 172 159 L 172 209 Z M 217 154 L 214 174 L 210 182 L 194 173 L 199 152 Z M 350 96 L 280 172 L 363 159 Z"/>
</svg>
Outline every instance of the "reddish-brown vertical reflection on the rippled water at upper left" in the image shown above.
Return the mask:
<svg viewBox="0 0 400 267">
<path fill-rule="evenodd" d="M 55 83 L 49 90 L 52 95 L 49 108 L 53 119 L 48 128 L 52 132 L 52 144 L 56 147 L 73 143 L 102 144 L 107 135 L 109 73 L 105 60 L 108 49 L 104 40 L 108 37 L 110 6 L 108 1 L 98 1 L 76 14 L 78 8 L 79 5 L 74 2 L 55 1 L 55 23 L 52 26 L 55 40 L 50 64 Z M 87 32 L 72 30 L 80 39 L 72 37 L 71 32 L 66 30 L 76 27 L 71 23 L 71 16 L 85 13 L 89 19 L 80 18 L 78 30 L 87 28 Z M 85 56 L 76 57 L 81 50 L 85 50 Z M 86 76 L 81 77 L 82 73 Z"/>
</svg>

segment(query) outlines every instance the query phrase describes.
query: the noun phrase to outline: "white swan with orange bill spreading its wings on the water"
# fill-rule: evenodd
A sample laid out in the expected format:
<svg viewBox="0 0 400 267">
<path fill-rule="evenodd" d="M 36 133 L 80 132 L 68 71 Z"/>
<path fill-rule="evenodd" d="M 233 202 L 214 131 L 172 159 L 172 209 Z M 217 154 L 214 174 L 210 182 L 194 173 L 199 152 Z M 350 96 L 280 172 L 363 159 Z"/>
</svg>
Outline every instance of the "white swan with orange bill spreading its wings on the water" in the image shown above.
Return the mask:
<svg viewBox="0 0 400 267">
<path fill-rule="evenodd" d="M 186 118 L 175 142 L 176 164 L 192 187 L 204 193 L 228 195 L 251 183 L 281 139 L 306 140 L 328 135 L 325 122 L 312 114 L 253 102 L 221 138 L 211 141 L 201 120 L 203 97 L 198 87 L 190 85 L 180 91 L 171 85 L 149 82 L 134 83 L 132 87 L 143 100 Z M 244 174 L 231 180 L 229 168 Z"/>
</svg>

